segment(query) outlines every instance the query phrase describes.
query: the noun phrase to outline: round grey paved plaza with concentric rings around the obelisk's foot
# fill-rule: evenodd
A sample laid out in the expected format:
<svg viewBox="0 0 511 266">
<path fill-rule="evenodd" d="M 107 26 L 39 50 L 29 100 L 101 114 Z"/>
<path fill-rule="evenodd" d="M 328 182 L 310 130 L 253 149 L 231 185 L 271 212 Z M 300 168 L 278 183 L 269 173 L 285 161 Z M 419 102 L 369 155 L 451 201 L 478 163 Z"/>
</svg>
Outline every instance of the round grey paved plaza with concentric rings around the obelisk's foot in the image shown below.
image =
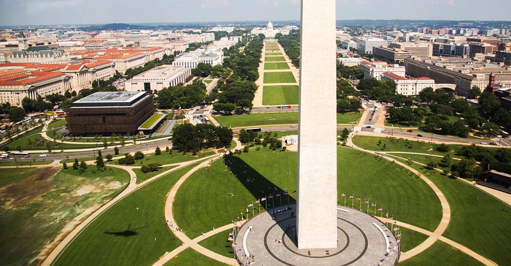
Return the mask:
<svg viewBox="0 0 511 266">
<path fill-rule="evenodd" d="M 344 207 L 337 208 L 336 248 L 298 249 L 295 211 L 295 205 L 285 206 L 247 221 L 234 240 L 238 261 L 243 265 L 254 262 L 253 265 L 366 266 L 382 261 L 395 265 L 399 260 L 397 240 L 384 223 Z"/>
</svg>

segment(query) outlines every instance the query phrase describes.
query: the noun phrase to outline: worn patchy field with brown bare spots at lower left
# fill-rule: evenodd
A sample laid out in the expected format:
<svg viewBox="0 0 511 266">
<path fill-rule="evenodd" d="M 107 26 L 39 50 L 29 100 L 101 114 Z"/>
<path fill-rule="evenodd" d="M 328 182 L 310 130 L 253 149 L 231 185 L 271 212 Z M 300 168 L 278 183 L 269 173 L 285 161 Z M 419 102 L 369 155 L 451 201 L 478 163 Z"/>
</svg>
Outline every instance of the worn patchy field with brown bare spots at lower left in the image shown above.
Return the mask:
<svg viewBox="0 0 511 266">
<path fill-rule="evenodd" d="M 3 265 L 37 264 L 47 255 L 63 225 L 82 220 L 119 194 L 127 172 L 88 166 L 78 171 L 59 167 L 1 169 L 0 261 Z M 78 218 L 77 218 L 78 217 Z M 72 229 L 70 227 L 69 229 Z"/>
</svg>

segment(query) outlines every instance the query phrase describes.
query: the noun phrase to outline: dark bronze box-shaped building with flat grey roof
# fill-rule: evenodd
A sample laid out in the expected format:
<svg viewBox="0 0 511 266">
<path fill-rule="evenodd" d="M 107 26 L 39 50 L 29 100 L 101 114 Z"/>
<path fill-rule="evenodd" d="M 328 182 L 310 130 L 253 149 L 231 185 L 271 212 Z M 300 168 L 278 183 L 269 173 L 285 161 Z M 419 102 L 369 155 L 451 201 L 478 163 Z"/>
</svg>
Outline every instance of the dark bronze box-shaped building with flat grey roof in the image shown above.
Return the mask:
<svg viewBox="0 0 511 266">
<path fill-rule="evenodd" d="M 70 134 L 133 133 L 154 113 L 146 92 L 99 92 L 66 109 Z"/>
</svg>

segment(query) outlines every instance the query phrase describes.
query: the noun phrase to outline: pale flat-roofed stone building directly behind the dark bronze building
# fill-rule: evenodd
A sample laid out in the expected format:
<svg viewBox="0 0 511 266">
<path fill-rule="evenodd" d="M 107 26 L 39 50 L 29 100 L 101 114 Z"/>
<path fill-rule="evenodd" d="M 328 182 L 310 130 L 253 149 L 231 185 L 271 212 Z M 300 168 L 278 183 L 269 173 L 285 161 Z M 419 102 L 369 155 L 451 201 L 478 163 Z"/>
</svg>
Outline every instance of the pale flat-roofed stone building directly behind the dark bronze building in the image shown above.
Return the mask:
<svg viewBox="0 0 511 266">
<path fill-rule="evenodd" d="M 124 82 L 124 90 L 127 92 L 145 91 L 155 93 L 162 88 L 175 86 L 187 82 L 192 75 L 192 70 L 182 66 L 161 65 L 134 76 Z"/>
</svg>

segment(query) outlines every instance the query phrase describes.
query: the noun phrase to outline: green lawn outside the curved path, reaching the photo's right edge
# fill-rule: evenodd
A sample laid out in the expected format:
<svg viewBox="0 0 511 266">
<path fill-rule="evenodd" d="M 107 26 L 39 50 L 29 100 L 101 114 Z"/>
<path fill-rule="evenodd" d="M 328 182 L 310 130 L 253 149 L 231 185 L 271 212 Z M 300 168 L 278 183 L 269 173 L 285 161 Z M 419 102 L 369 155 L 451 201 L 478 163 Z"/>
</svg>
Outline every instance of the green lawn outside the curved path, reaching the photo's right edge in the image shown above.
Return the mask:
<svg viewBox="0 0 511 266">
<path fill-rule="evenodd" d="M 511 207 L 486 192 L 461 180 L 451 179 L 434 170 L 412 164 L 423 172 L 447 198 L 451 221 L 445 237 L 506 265 L 511 258 Z"/>
</svg>

